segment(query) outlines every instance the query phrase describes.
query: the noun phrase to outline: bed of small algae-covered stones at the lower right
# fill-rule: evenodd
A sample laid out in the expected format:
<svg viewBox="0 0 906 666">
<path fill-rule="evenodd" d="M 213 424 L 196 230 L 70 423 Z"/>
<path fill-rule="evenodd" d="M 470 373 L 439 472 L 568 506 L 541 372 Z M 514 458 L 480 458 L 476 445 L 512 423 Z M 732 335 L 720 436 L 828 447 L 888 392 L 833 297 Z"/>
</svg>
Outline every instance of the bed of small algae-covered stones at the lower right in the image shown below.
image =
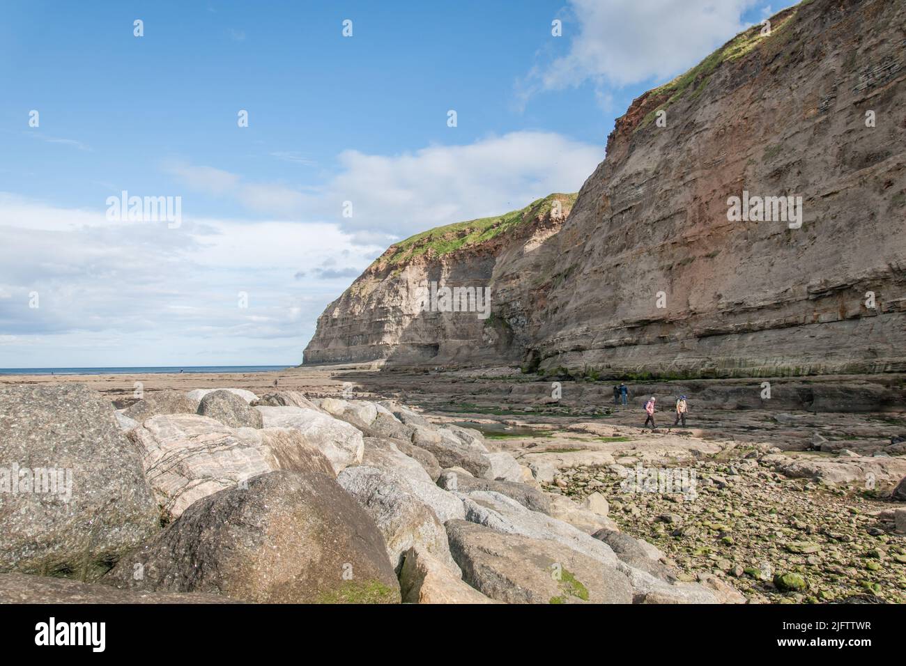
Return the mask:
<svg viewBox="0 0 906 666">
<path fill-rule="evenodd" d="M 714 574 L 753 603 L 906 602 L 890 493 L 788 478 L 768 458 L 696 461 L 698 501 L 622 492 L 617 465 L 570 469 L 563 492 L 609 497 L 614 522 L 657 545 L 680 579 Z"/>
</svg>

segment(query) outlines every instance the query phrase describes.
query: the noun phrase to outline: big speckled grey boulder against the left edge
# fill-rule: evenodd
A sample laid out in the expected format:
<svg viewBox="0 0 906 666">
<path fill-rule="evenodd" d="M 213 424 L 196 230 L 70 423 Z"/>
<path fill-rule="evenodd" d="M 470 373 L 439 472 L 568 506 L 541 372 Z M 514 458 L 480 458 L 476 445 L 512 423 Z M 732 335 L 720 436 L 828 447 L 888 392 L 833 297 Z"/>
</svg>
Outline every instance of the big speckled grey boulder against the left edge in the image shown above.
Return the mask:
<svg viewBox="0 0 906 666">
<path fill-rule="evenodd" d="M 82 384 L 0 387 L 0 572 L 92 581 L 159 517 L 109 400 Z"/>
</svg>

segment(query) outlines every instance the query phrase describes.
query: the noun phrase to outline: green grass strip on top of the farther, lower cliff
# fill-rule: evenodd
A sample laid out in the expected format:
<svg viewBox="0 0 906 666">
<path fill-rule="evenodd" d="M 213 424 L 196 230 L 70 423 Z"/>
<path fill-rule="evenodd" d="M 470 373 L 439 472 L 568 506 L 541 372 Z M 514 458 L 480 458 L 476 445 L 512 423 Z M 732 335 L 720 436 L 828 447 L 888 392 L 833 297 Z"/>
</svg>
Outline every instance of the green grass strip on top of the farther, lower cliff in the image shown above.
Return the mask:
<svg viewBox="0 0 906 666">
<path fill-rule="evenodd" d="M 511 210 L 500 216 L 480 217 L 423 231 L 390 246 L 379 261 L 385 261 L 391 266 L 402 265 L 416 256 L 429 253 L 432 256 L 443 256 L 463 247 L 477 246 L 514 227 L 547 215 L 554 206 L 554 200 L 560 201 L 564 214 L 568 213 L 577 196 L 578 194 L 551 194 L 533 201 L 525 208 Z M 393 254 L 390 254 L 390 250 Z"/>
</svg>

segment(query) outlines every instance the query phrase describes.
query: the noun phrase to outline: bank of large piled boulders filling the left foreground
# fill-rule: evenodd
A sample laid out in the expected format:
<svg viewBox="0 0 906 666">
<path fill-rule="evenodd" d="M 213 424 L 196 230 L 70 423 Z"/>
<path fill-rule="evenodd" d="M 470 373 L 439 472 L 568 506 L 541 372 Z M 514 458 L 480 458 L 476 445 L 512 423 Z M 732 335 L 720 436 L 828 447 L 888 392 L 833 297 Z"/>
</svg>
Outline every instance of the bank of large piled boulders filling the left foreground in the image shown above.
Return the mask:
<svg viewBox="0 0 906 666">
<path fill-rule="evenodd" d="M 0 460 L 6 602 L 744 600 L 396 401 L 7 385 Z"/>
</svg>

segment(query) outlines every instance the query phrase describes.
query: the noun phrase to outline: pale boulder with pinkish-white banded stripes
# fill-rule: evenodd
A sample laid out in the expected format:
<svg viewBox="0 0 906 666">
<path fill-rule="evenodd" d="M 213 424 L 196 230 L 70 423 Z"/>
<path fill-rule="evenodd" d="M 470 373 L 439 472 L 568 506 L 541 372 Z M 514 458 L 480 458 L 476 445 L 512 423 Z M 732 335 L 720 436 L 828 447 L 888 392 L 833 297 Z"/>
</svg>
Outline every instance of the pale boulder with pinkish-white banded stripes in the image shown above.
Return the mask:
<svg viewBox="0 0 906 666">
<path fill-rule="evenodd" d="M 146 420 L 129 437 L 144 452 L 149 483 L 172 517 L 202 497 L 275 469 L 333 471 L 294 430 L 233 430 L 207 416 L 170 414 Z"/>
</svg>

